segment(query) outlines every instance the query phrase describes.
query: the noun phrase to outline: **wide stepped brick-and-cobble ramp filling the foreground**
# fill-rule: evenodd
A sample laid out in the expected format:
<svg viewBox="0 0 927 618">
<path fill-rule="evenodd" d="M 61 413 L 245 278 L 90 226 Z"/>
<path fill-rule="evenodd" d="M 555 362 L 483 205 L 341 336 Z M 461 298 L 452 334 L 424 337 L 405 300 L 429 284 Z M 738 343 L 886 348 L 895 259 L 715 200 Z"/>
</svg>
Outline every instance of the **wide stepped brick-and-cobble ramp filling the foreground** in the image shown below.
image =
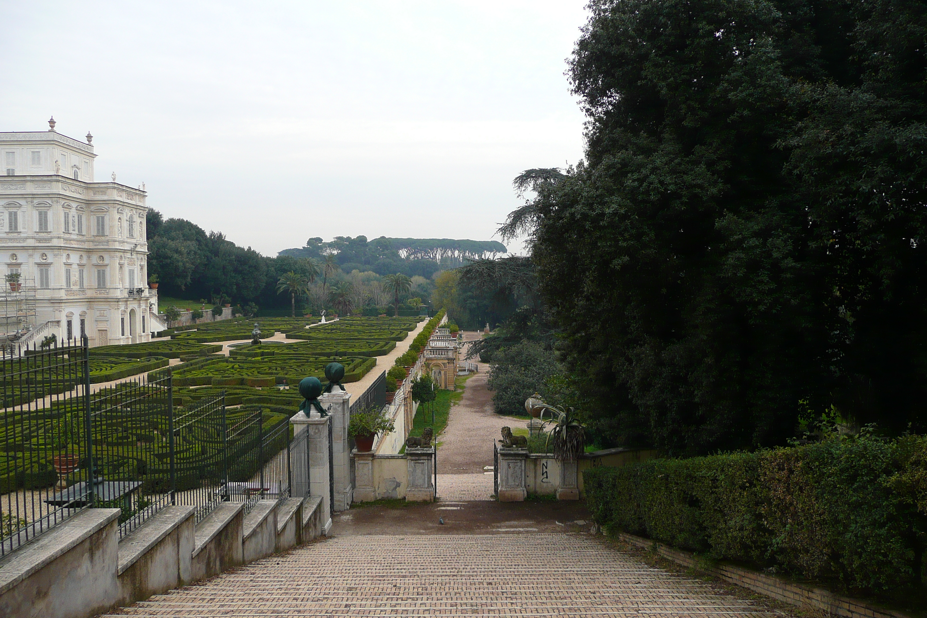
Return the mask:
<svg viewBox="0 0 927 618">
<path fill-rule="evenodd" d="M 582 534 L 336 536 L 124 613 L 184 616 L 782 616 Z"/>
</svg>

